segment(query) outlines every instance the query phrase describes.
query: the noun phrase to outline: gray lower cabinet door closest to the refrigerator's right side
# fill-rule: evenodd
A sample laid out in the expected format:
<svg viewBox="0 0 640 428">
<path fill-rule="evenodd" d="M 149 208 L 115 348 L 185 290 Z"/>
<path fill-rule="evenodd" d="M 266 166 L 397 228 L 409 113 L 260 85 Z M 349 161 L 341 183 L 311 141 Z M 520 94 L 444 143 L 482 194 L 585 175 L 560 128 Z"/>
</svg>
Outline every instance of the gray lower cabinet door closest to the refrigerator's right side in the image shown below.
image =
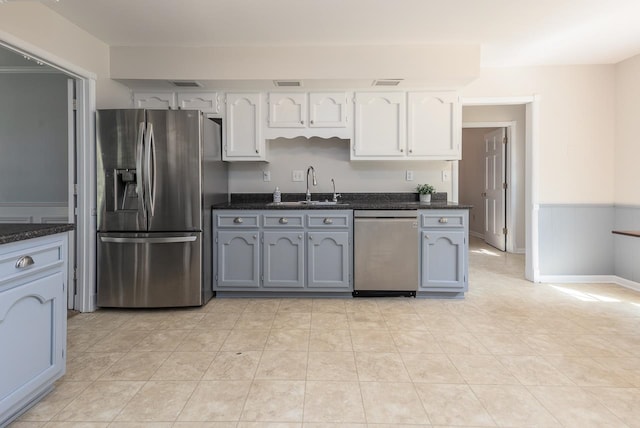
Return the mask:
<svg viewBox="0 0 640 428">
<path fill-rule="evenodd" d="M 259 238 L 257 230 L 218 232 L 218 287 L 260 287 Z"/>
</svg>

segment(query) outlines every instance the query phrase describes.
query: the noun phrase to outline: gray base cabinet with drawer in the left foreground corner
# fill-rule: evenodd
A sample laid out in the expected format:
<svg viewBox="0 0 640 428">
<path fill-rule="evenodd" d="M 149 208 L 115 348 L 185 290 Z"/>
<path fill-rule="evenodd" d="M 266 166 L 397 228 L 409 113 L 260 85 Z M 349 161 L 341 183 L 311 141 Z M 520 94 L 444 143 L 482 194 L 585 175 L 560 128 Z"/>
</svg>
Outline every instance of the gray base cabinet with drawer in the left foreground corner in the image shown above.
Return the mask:
<svg viewBox="0 0 640 428">
<path fill-rule="evenodd" d="M 65 372 L 67 233 L 0 245 L 0 426 Z"/>
</svg>

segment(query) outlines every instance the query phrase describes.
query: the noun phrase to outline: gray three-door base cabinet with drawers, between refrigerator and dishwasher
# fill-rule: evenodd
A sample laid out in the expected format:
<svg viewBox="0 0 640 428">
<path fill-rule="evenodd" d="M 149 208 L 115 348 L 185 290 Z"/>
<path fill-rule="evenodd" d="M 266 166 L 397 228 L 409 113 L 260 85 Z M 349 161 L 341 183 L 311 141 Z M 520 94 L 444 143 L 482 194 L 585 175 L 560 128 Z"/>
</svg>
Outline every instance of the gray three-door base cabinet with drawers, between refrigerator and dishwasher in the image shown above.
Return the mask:
<svg viewBox="0 0 640 428">
<path fill-rule="evenodd" d="M 213 211 L 216 292 L 351 292 L 349 210 Z"/>
</svg>

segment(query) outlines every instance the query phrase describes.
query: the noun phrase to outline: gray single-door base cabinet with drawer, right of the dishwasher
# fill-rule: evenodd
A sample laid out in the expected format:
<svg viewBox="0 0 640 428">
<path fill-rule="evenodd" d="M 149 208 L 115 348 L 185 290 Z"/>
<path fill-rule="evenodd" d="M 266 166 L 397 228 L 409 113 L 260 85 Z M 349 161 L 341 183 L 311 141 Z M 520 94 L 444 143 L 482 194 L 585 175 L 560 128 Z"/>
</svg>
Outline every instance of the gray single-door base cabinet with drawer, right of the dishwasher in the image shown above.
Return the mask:
<svg viewBox="0 0 640 428">
<path fill-rule="evenodd" d="M 468 289 L 468 211 L 420 212 L 418 291 L 462 296 Z"/>
</svg>

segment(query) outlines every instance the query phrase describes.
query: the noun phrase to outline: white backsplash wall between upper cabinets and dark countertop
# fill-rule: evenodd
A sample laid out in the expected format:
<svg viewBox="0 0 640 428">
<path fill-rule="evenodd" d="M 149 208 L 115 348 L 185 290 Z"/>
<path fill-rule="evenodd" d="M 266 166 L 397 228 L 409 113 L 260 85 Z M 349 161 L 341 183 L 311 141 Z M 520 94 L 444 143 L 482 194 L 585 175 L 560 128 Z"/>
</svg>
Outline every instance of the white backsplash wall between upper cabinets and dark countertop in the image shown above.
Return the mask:
<svg viewBox="0 0 640 428">
<path fill-rule="evenodd" d="M 451 171 L 450 162 L 440 161 L 349 161 L 349 141 L 337 138 L 279 138 L 267 142 L 270 162 L 230 164 L 230 191 L 234 193 L 304 193 L 304 182 L 292 182 L 291 171 L 313 165 L 318 186 L 312 193 L 332 192 L 331 179 L 338 192 L 415 192 L 418 183 L 430 183 L 439 192 L 451 195 L 451 181 L 442 182 L 441 171 Z M 414 180 L 405 180 L 406 170 L 414 171 Z M 271 171 L 271 181 L 262 181 L 262 171 Z M 305 176 L 306 179 L 306 176 Z"/>
</svg>

